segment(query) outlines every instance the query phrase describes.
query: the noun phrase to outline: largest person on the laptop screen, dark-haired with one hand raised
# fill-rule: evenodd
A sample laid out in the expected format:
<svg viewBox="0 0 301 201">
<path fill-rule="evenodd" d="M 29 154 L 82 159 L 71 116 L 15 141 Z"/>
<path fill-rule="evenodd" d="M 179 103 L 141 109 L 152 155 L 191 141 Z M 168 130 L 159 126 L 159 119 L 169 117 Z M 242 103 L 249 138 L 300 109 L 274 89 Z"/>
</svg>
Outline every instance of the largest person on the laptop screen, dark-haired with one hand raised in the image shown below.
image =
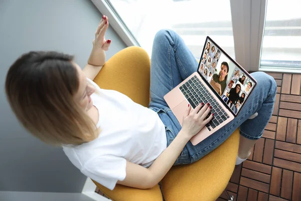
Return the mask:
<svg viewBox="0 0 301 201">
<path fill-rule="evenodd" d="M 219 72 L 219 74 L 214 74 L 212 79 L 213 81 L 215 81 L 215 85 L 219 88 L 218 94 L 222 95 L 222 93 L 224 92 L 227 84 L 226 84 L 226 80 L 228 77 L 228 72 L 229 72 L 229 65 L 226 61 L 223 61 L 221 64 L 221 70 Z"/>
</svg>

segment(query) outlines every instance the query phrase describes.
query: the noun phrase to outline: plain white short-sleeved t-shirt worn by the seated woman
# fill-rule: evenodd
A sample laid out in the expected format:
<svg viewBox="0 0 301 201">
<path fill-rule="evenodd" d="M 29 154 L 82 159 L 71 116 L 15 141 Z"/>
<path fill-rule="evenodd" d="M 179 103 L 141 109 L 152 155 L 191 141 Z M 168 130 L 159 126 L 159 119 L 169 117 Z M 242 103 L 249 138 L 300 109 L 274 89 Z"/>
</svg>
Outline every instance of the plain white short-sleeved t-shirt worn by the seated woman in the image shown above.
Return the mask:
<svg viewBox="0 0 301 201">
<path fill-rule="evenodd" d="M 153 110 L 89 81 L 98 91 L 91 99 L 101 132 L 91 142 L 64 145 L 63 150 L 83 174 L 112 190 L 125 178 L 126 161 L 149 167 L 166 149 L 165 126 Z"/>
</svg>

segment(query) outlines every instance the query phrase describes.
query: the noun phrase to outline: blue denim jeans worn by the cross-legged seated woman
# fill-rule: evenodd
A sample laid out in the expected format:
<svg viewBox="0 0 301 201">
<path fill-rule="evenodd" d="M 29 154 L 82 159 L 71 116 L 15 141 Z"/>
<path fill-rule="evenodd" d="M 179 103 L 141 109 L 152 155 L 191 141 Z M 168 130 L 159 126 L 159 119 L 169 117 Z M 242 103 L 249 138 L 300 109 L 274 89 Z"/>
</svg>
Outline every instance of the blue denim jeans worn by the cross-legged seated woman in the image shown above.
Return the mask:
<svg viewBox="0 0 301 201">
<path fill-rule="evenodd" d="M 196 72 L 197 68 L 198 62 L 176 32 L 161 30 L 156 34 L 150 67 L 149 108 L 158 113 L 165 125 L 167 146 L 182 127 L 163 96 Z M 262 136 L 273 112 L 277 85 L 275 80 L 264 72 L 254 72 L 251 75 L 257 80 L 257 86 L 238 116 L 196 146 L 189 141 L 174 165 L 199 160 L 222 144 L 238 127 L 240 135 L 245 138 L 258 140 Z M 258 116 L 249 120 L 248 118 L 256 112 Z"/>
</svg>

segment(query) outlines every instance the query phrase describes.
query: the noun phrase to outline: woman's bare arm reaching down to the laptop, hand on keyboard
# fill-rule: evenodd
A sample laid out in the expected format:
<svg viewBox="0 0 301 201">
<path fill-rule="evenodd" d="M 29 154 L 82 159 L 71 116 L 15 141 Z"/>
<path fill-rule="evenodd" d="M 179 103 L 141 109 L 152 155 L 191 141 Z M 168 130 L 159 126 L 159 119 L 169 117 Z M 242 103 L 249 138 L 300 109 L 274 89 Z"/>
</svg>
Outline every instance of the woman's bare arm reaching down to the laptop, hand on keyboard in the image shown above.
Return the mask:
<svg viewBox="0 0 301 201">
<path fill-rule="evenodd" d="M 188 107 L 181 131 L 148 169 L 126 162 L 125 179 L 117 181 L 117 183 L 142 189 L 152 188 L 158 184 L 171 169 L 187 142 L 212 119 L 213 116 L 210 115 L 204 120 L 209 114 L 210 108 L 205 105 L 201 109 L 201 106 L 200 104 L 194 110 L 191 110 L 191 106 Z M 198 111 L 200 112 L 198 113 Z"/>
</svg>

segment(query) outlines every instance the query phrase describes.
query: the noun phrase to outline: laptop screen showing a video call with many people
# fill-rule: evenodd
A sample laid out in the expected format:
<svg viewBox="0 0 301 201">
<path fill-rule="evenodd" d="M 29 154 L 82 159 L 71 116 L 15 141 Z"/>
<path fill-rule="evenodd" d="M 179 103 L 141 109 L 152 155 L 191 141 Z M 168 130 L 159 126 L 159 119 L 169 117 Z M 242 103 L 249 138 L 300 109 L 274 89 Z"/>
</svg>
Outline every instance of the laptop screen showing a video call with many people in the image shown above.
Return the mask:
<svg viewBox="0 0 301 201">
<path fill-rule="evenodd" d="M 235 115 L 256 84 L 254 79 L 247 76 L 246 71 L 209 37 L 206 39 L 198 72 Z"/>
</svg>

